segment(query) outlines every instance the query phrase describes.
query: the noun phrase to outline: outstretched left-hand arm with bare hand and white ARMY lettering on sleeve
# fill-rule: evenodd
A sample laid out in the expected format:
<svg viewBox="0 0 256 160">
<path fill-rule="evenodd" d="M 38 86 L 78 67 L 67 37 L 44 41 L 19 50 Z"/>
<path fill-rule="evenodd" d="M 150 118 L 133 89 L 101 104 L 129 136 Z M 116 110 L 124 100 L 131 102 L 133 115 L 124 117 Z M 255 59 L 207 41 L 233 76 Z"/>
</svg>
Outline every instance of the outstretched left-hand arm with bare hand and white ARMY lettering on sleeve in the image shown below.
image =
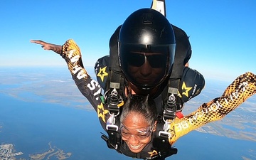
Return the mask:
<svg viewBox="0 0 256 160">
<path fill-rule="evenodd" d="M 31 43 L 40 44 L 43 49 L 53 50 L 64 58 L 78 89 L 97 111 L 98 105 L 102 105 L 102 102 L 100 101 L 101 87 L 96 80 L 92 80 L 83 67 L 80 48 L 75 41 L 68 40 L 63 46 L 46 43 L 40 40 L 31 40 Z M 105 119 L 102 120 L 105 121 Z"/>
</svg>

